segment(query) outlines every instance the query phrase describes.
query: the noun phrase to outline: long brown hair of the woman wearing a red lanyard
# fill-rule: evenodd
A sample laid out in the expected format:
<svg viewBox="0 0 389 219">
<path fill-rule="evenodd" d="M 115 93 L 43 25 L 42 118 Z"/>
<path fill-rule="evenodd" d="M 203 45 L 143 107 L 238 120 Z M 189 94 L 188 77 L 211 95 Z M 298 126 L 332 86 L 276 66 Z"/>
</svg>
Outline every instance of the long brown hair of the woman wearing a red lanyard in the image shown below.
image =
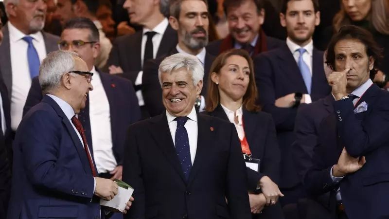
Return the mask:
<svg viewBox="0 0 389 219">
<path fill-rule="evenodd" d="M 255 78 L 254 78 L 254 65 L 252 62 L 252 59 L 248 52 L 246 50 L 240 50 L 240 49 L 231 49 L 228 50 L 216 57 L 216 59 L 213 61 L 211 66 L 211 71 L 208 76 L 208 90 L 207 90 L 207 96 L 205 98 L 205 110 L 207 112 L 212 112 L 216 109 L 216 107 L 219 105 L 219 89 L 217 85 L 212 81 L 212 73 L 220 73 L 220 70 L 223 68 L 223 66 L 226 65 L 226 61 L 228 58 L 230 58 L 232 55 L 239 55 L 241 57 L 244 57 L 248 62 L 248 68 L 250 69 L 250 81 L 248 82 L 248 88 L 243 96 L 243 106 L 248 111 L 259 111 L 261 108 L 256 105 L 258 93 L 257 93 L 257 86 L 255 85 Z"/>
</svg>

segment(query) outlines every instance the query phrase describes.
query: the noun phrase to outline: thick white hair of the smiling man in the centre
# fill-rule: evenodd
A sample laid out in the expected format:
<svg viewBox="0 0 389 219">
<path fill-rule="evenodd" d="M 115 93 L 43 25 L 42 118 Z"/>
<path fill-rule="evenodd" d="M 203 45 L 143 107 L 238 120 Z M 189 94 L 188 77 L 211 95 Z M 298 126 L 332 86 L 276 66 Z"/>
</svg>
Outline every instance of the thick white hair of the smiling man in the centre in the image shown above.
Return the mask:
<svg viewBox="0 0 389 219">
<path fill-rule="evenodd" d="M 159 84 L 162 86 L 162 73 L 172 73 L 178 69 L 185 69 L 191 74 L 193 85 L 203 80 L 204 68 L 195 55 L 174 54 L 163 59 L 158 69 Z"/>
</svg>

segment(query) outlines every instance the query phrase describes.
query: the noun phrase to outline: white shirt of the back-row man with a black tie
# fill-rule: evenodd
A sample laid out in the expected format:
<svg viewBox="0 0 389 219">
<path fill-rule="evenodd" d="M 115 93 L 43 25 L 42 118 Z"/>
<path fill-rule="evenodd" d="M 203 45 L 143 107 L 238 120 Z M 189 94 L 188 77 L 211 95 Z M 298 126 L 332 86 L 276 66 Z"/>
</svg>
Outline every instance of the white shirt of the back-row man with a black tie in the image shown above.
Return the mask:
<svg viewBox="0 0 389 219">
<path fill-rule="evenodd" d="M 144 50 L 146 48 L 146 42 L 147 42 L 147 36 L 145 35 L 146 32 L 149 32 L 149 31 L 154 31 L 156 32 L 157 34 L 154 35 L 154 37 L 152 38 L 152 42 L 153 42 L 153 58 L 155 59 L 156 56 L 157 56 L 157 53 L 158 53 L 158 49 L 159 49 L 159 45 L 161 43 L 161 40 L 162 40 L 162 37 L 163 35 L 165 34 L 165 31 L 166 31 L 166 28 L 167 26 L 169 25 L 169 21 L 167 20 L 167 18 L 164 18 L 162 20 L 162 22 L 160 22 L 153 30 L 150 30 L 148 28 L 143 28 L 143 37 L 142 37 L 142 42 L 141 42 L 141 64 L 142 64 L 142 68 L 143 68 L 143 59 L 144 59 Z M 140 71 L 138 73 L 138 76 L 135 80 L 135 85 L 141 85 L 142 84 L 142 75 L 143 75 L 143 71 Z M 144 106 L 144 101 L 143 101 L 143 96 L 142 96 L 142 91 L 137 91 L 136 92 L 137 94 L 137 97 L 138 97 L 138 102 L 139 102 L 139 106 Z"/>
</svg>

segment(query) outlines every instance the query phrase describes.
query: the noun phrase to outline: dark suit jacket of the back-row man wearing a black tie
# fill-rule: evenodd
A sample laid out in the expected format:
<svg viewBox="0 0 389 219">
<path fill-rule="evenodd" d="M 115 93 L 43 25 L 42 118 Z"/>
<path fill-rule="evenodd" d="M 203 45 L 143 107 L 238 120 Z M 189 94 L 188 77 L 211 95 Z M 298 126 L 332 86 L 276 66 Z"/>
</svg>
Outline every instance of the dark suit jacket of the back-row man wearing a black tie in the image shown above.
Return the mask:
<svg viewBox="0 0 389 219">
<path fill-rule="evenodd" d="M 142 71 L 141 44 L 143 32 L 117 37 L 112 42 L 112 50 L 106 66 L 120 66 L 124 73 L 122 76 L 135 83 L 138 73 Z M 177 32 L 168 25 L 159 44 L 156 58 L 168 53 L 177 45 Z M 155 48 L 154 48 L 155 49 Z M 146 60 L 143 61 L 145 63 Z"/>
</svg>

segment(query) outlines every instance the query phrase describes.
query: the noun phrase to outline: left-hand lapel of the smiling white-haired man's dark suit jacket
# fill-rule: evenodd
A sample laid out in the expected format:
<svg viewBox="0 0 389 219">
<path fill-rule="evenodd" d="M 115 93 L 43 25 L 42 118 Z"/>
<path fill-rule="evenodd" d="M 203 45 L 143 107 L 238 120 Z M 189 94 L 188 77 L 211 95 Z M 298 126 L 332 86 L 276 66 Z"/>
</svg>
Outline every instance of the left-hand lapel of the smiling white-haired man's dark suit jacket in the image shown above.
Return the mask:
<svg viewBox="0 0 389 219">
<path fill-rule="evenodd" d="M 159 146 L 159 149 L 166 156 L 167 160 L 177 171 L 181 179 L 186 182 L 184 172 L 182 171 L 181 164 L 178 160 L 176 148 L 170 133 L 170 128 L 167 123 L 166 113 L 163 112 L 161 115 L 156 117 L 155 120 L 151 120 L 151 122 L 154 123 L 149 127 L 151 136 Z"/>
</svg>

